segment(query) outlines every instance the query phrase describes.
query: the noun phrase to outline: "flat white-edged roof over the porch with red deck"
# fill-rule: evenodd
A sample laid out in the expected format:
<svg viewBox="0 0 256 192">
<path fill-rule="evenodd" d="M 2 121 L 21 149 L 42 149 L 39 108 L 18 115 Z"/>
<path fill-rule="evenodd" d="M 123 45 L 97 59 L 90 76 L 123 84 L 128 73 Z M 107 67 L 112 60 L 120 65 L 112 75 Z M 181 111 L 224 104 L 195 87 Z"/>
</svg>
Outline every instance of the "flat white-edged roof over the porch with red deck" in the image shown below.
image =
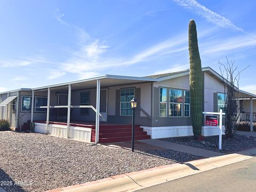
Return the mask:
<svg viewBox="0 0 256 192">
<path fill-rule="evenodd" d="M 137 84 L 137 83 L 149 83 L 149 82 L 157 82 L 157 79 L 154 78 L 146 78 L 146 77 L 131 77 L 131 76 L 118 76 L 118 75 L 103 75 L 99 77 L 83 79 L 80 81 L 61 83 L 43 87 L 37 87 L 31 90 L 34 91 L 44 91 L 48 88 L 52 88 L 54 90 L 67 88 L 68 85 L 72 85 L 72 90 L 82 90 L 82 89 L 92 89 L 97 86 L 97 80 L 101 80 L 101 87 L 109 87 L 109 86 L 119 86 L 119 85 L 129 85 L 129 84 Z"/>
</svg>

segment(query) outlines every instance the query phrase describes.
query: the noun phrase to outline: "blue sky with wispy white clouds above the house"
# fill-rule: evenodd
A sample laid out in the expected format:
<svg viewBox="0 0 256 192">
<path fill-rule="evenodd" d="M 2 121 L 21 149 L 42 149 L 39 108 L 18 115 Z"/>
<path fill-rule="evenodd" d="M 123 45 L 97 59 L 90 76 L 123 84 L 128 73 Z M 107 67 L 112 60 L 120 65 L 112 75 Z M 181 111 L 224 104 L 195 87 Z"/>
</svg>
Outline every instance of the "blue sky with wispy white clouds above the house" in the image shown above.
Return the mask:
<svg viewBox="0 0 256 192">
<path fill-rule="evenodd" d="M 145 76 L 189 68 L 188 23 L 202 67 L 226 56 L 240 88 L 256 92 L 256 2 L 108 0 L 0 2 L 0 92 L 104 74 Z"/>
</svg>

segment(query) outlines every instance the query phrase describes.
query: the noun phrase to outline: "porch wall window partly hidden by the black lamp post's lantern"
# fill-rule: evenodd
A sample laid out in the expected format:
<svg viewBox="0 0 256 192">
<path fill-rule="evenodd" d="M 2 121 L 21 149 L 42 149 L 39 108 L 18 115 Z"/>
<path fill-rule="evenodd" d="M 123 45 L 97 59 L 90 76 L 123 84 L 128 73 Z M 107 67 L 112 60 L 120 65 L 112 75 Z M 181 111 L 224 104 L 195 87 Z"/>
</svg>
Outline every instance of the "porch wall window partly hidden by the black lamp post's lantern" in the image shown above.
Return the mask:
<svg viewBox="0 0 256 192">
<path fill-rule="evenodd" d="M 132 115 L 131 100 L 134 98 L 134 89 L 122 89 L 120 91 L 120 115 Z"/>
</svg>

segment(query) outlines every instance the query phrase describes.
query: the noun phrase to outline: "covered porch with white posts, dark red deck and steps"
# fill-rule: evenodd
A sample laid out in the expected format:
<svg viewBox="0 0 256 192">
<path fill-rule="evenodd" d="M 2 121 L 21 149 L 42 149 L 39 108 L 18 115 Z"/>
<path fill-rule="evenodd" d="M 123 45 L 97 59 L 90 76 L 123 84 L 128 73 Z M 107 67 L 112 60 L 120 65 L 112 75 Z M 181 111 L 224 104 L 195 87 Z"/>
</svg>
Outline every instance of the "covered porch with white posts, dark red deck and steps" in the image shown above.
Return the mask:
<svg viewBox="0 0 256 192">
<path fill-rule="evenodd" d="M 109 109 L 111 95 L 116 93 L 113 93 L 116 90 L 112 87 L 135 87 L 138 84 L 148 84 L 151 87 L 152 82 L 154 79 L 151 78 L 105 75 L 32 89 L 31 103 L 35 103 L 35 106 L 34 110 L 31 110 L 30 121 L 34 122 L 36 132 L 53 134 L 58 137 L 97 143 L 129 141 L 131 140 L 131 116 L 126 116 L 127 121 L 124 122 L 115 123 L 108 119 L 109 112 L 113 110 Z M 35 94 L 39 93 L 47 95 L 46 100 L 42 102 L 46 105 L 36 104 Z M 135 93 L 135 97 L 138 94 L 138 92 Z M 42 111 L 40 118 L 35 116 L 36 110 Z M 148 116 L 146 118 L 151 118 L 151 114 L 146 113 L 146 116 Z M 140 125 L 136 125 L 135 139 L 148 138 L 150 136 L 140 128 Z"/>
</svg>

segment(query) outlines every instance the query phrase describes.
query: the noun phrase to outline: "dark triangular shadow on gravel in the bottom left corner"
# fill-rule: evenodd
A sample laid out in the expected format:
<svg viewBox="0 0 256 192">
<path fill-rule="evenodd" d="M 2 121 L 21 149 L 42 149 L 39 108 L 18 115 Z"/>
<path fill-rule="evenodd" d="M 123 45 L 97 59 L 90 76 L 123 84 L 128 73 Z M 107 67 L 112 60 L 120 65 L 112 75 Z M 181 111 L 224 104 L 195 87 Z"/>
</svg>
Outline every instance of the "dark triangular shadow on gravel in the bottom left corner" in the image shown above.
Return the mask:
<svg viewBox="0 0 256 192">
<path fill-rule="evenodd" d="M 18 183 L 10 177 L 4 170 L 0 169 L 0 191 L 3 188 L 5 191 L 25 192 Z M 2 191 L 1 191 L 2 192 Z"/>
</svg>

